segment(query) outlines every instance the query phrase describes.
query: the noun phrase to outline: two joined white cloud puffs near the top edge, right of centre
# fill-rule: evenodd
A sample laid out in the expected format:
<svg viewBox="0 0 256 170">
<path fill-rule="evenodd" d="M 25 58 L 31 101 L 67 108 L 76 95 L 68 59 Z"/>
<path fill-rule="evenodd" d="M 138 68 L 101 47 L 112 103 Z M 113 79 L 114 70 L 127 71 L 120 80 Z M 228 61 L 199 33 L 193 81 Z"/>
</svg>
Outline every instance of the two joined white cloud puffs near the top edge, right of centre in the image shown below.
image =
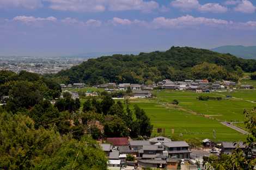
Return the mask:
<svg viewBox="0 0 256 170">
<path fill-rule="evenodd" d="M 227 12 L 228 9 L 223 7 L 218 3 L 207 3 L 201 5 L 198 0 L 175 0 L 170 3 L 174 8 L 179 8 L 181 10 L 191 10 L 196 9 L 201 12 L 213 12 L 213 13 L 223 13 Z"/>
</svg>

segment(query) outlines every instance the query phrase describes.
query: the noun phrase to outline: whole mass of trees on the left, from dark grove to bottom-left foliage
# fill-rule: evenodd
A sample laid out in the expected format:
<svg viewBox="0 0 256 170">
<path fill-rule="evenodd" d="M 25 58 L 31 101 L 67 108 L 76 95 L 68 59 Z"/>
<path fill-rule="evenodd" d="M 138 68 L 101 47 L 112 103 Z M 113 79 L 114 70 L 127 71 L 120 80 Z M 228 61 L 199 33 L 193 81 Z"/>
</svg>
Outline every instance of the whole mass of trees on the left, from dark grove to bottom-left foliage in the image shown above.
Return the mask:
<svg viewBox="0 0 256 170">
<path fill-rule="evenodd" d="M 128 100 L 102 92 L 80 103 L 54 79 L 26 71 L 0 71 L 0 99 L 0 169 L 104 170 L 96 140 L 148 138 L 153 130 L 145 111 L 130 109 Z"/>
</svg>

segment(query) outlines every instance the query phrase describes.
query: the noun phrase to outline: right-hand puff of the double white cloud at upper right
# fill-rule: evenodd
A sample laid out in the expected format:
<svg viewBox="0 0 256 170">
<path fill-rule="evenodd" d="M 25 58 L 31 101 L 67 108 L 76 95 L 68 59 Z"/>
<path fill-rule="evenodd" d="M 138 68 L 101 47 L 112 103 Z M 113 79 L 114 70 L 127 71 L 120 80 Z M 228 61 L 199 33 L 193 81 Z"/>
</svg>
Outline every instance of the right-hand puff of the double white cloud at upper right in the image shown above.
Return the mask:
<svg viewBox="0 0 256 170">
<path fill-rule="evenodd" d="M 201 5 L 198 10 L 203 12 L 224 13 L 228 11 L 228 8 L 218 3 L 208 3 Z"/>
</svg>

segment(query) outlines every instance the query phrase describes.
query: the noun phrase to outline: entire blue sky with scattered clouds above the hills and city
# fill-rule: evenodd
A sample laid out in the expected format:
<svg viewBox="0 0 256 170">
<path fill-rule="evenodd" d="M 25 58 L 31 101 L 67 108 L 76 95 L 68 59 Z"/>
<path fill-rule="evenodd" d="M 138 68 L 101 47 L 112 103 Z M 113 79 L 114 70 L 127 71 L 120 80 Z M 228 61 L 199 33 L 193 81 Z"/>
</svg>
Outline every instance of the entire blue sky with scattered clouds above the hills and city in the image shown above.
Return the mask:
<svg viewBox="0 0 256 170">
<path fill-rule="evenodd" d="M 0 0 L 0 55 L 256 45 L 254 0 Z"/>
</svg>

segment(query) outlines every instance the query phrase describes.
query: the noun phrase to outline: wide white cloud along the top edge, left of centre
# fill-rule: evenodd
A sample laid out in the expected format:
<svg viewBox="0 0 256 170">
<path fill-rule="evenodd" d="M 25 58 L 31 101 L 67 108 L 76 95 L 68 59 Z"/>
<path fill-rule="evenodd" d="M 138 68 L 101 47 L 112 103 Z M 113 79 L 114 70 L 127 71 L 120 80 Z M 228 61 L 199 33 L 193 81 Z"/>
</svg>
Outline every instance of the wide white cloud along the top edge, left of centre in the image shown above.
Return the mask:
<svg viewBox="0 0 256 170">
<path fill-rule="evenodd" d="M 50 8 L 64 11 L 101 12 L 140 10 L 151 11 L 159 8 L 155 1 L 144 0 L 43 0 L 50 3 Z"/>
</svg>

